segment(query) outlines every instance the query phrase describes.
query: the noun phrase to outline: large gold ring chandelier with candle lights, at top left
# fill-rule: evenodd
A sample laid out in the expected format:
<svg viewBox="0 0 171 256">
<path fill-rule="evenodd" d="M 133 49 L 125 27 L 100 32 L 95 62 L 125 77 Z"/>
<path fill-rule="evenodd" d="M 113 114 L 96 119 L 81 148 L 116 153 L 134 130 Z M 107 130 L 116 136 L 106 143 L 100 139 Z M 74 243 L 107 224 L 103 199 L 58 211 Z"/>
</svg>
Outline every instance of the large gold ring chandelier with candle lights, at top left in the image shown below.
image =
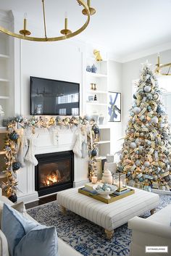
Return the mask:
<svg viewBox="0 0 171 256">
<path fill-rule="evenodd" d="M 72 32 L 70 29 L 68 29 L 68 21 L 67 21 L 67 17 L 65 17 L 64 18 L 64 29 L 62 29 L 60 31 L 60 33 L 62 33 L 63 36 L 48 38 L 47 34 L 46 34 L 46 17 L 45 17 L 45 5 L 44 5 L 45 0 L 41 0 L 41 1 L 42 1 L 42 7 L 43 7 L 44 37 L 30 36 L 31 33 L 29 30 L 27 30 L 26 17 L 24 18 L 23 29 L 20 30 L 20 32 L 19 32 L 20 34 L 13 33 L 12 31 L 7 30 L 6 28 L 3 28 L 1 26 L 0 26 L 0 31 L 9 36 L 13 36 L 15 38 L 20 38 L 20 39 L 24 39 L 24 40 L 28 40 L 28 41 L 43 41 L 43 42 L 45 42 L 45 41 L 60 41 L 60 40 L 64 40 L 67 38 L 72 38 L 73 36 L 77 36 L 79 33 L 81 33 L 83 30 L 85 30 L 88 26 L 88 23 L 90 22 L 91 15 L 94 15 L 96 13 L 96 10 L 93 9 L 93 7 L 91 7 L 91 0 L 87 0 L 87 3 L 85 0 L 76 0 L 76 1 L 78 1 L 78 4 L 84 8 L 82 11 L 83 15 L 87 16 L 87 20 L 84 23 L 84 25 L 82 27 L 80 27 L 78 30 L 75 30 L 74 32 Z"/>
</svg>

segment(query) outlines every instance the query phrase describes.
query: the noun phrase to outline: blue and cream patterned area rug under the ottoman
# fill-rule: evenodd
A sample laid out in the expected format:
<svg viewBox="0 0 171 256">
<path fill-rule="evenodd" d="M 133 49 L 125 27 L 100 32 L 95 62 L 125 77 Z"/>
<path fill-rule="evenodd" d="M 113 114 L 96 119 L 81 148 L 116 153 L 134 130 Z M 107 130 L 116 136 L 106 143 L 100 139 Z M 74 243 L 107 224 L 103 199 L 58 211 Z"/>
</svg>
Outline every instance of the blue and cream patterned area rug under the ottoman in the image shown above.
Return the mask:
<svg viewBox="0 0 171 256">
<path fill-rule="evenodd" d="M 171 203 L 169 195 L 160 195 L 157 210 Z M 39 223 L 46 226 L 56 226 L 58 236 L 74 247 L 84 256 L 128 256 L 131 231 L 128 225 L 122 225 L 114 231 L 113 238 L 106 239 L 104 229 L 73 212 L 64 215 L 57 202 L 32 208 L 27 211 Z M 141 216 L 146 218 L 150 212 Z"/>
</svg>

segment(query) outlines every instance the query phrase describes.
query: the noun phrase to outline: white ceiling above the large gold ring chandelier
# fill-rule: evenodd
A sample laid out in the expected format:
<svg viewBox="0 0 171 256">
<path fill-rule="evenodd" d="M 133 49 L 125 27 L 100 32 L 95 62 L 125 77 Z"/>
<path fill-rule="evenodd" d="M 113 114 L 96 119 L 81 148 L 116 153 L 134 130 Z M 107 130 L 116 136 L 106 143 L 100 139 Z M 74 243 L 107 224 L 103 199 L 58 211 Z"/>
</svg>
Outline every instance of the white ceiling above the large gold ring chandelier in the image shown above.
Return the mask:
<svg viewBox="0 0 171 256">
<path fill-rule="evenodd" d="M 72 30 L 86 19 L 76 0 L 46 0 L 45 4 L 47 29 L 61 30 L 65 11 Z M 155 47 L 159 51 L 164 46 L 171 49 L 171 0 L 91 0 L 91 5 L 96 15 L 79 40 L 98 44 L 117 59 Z M 28 22 L 41 22 L 43 26 L 41 0 L 0 0 L 0 9 L 12 10 L 20 17 L 27 12 Z"/>
</svg>

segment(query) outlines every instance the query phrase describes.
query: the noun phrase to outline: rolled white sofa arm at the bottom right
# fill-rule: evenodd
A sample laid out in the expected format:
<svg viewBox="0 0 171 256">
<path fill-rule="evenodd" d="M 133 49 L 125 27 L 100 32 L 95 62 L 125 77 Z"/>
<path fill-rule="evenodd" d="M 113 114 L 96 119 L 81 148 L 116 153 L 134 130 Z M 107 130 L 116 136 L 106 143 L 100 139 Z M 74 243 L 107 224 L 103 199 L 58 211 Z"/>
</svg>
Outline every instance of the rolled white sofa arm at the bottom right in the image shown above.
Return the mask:
<svg viewBox="0 0 171 256">
<path fill-rule="evenodd" d="M 134 217 L 128 220 L 128 228 L 171 239 L 171 227 L 164 226 L 161 223 L 152 220 Z"/>
</svg>

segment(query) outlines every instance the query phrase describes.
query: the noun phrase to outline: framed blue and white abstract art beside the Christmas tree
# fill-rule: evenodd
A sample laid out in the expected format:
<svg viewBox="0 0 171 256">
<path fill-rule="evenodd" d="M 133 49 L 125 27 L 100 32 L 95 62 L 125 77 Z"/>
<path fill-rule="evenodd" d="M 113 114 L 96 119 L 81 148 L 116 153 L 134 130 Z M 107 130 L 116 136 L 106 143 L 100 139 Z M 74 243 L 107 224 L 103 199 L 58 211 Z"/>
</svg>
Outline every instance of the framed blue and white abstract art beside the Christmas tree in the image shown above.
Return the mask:
<svg viewBox="0 0 171 256">
<path fill-rule="evenodd" d="M 120 92 L 108 92 L 108 122 L 120 122 L 121 121 L 121 93 Z"/>
</svg>

